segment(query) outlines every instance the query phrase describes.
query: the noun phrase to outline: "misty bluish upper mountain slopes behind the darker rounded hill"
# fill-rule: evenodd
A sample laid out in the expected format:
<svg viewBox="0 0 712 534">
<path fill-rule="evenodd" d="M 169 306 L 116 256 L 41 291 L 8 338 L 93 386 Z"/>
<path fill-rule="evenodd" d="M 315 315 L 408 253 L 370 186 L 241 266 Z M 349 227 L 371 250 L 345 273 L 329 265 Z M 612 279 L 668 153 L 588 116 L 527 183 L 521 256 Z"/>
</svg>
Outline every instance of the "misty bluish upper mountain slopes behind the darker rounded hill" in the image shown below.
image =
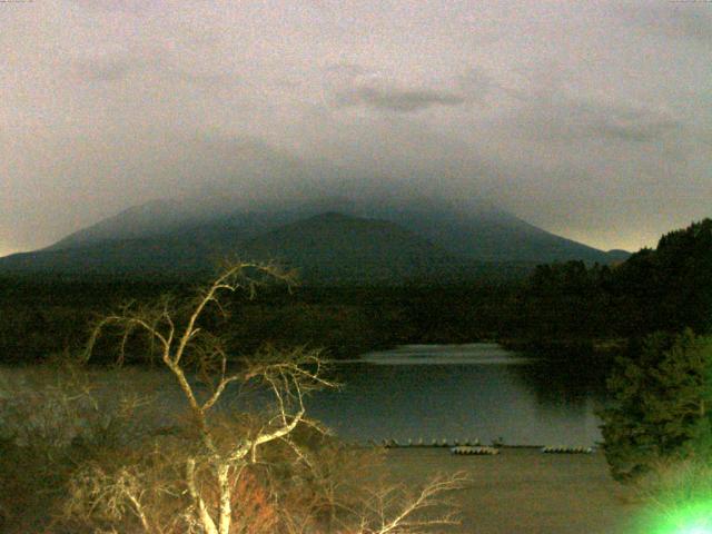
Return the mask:
<svg viewBox="0 0 712 534">
<path fill-rule="evenodd" d="M 293 206 L 264 205 L 256 209 L 212 201 L 157 201 L 131 208 L 77 231 L 49 250 L 80 247 L 102 240 L 142 239 L 189 235 L 219 248 L 222 241 L 256 237 L 280 226 L 338 211 L 349 216 L 394 222 L 448 253 L 479 261 L 550 263 L 570 259 L 602 264 L 625 259 L 627 253 L 605 253 L 556 236 L 511 214 L 486 206 L 459 205 L 438 199 L 370 199 L 359 202 L 326 198 Z"/>
</svg>

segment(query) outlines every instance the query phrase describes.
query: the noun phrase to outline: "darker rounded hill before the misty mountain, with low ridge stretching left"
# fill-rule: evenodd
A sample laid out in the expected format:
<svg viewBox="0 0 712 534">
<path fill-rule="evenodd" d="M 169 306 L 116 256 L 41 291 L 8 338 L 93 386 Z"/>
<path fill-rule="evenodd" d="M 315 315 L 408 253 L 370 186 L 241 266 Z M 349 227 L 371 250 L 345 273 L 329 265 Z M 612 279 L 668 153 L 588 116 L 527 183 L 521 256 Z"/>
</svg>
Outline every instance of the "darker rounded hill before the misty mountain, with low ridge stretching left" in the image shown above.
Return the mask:
<svg viewBox="0 0 712 534">
<path fill-rule="evenodd" d="M 248 238 L 229 227 L 215 231 L 210 238 L 177 231 L 17 254 L 0 259 L 0 273 L 189 275 L 210 270 L 224 257 L 237 256 L 277 260 L 297 268 L 306 281 L 373 283 L 459 276 L 471 267 L 393 222 L 334 212 Z"/>
</svg>

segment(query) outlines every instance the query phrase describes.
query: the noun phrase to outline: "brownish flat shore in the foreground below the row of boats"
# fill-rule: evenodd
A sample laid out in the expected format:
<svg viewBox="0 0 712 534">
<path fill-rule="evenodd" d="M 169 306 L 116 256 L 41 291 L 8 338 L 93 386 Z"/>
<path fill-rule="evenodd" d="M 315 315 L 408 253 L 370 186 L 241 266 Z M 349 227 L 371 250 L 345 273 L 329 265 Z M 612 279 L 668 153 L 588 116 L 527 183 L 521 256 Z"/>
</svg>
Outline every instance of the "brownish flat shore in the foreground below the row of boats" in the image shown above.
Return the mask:
<svg viewBox="0 0 712 534">
<path fill-rule="evenodd" d="M 632 490 L 609 475 L 602 452 L 543 454 L 504 448 L 492 456 L 458 456 L 445 448 L 389 448 L 383 467 L 409 488 L 437 474 L 465 473 L 471 482 L 448 497 L 462 524 L 454 533 L 625 534 L 641 511 Z"/>
</svg>

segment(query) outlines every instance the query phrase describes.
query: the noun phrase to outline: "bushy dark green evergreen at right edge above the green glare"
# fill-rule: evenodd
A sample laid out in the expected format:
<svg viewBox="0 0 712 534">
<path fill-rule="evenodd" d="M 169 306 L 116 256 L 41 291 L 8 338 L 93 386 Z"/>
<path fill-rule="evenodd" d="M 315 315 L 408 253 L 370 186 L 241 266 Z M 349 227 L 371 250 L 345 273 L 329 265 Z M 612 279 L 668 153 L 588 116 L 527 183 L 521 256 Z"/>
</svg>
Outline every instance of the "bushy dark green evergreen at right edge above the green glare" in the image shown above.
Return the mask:
<svg viewBox="0 0 712 534">
<path fill-rule="evenodd" d="M 600 413 L 615 479 L 633 482 L 660 459 L 709 448 L 711 372 L 712 338 L 691 329 L 652 334 L 619 359 L 607 383 L 613 403 Z"/>
</svg>

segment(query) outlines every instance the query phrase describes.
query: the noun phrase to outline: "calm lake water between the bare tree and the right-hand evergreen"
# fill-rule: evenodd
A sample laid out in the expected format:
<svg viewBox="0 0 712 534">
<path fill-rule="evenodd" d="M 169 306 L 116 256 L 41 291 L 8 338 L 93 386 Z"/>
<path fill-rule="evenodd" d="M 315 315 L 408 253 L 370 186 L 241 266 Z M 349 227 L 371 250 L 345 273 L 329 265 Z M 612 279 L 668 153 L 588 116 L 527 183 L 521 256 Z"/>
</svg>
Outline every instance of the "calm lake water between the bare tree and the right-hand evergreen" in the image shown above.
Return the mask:
<svg viewBox="0 0 712 534">
<path fill-rule="evenodd" d="M 339 392 L 312 416 L 347 439 L 502 438 L 516 445 L 594 445 L 597 377 L 497 345 L 408 345 L 336 366 Z"/>
</svg>

